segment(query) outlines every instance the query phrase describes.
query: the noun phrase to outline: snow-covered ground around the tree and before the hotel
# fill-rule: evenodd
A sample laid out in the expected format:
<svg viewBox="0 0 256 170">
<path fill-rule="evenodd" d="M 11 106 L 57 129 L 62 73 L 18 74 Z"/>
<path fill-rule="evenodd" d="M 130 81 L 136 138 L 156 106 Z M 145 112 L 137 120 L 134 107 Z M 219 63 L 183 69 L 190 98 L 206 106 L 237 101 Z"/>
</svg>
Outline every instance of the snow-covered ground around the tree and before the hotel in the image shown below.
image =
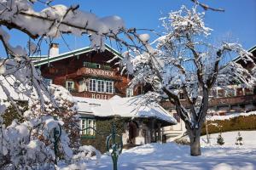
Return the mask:
<svg viewBox="0 0 256 170">
<path fill-rule="evenodd" d="M 211 135 L 211 145 L 202 137 L 202 155 L 189 156 L 189 146 L 174 143 L 145 144 L 124 150 L 119 156 L 119 170 L 171 170 L 171 169 L 213 169 L 213 170 L 253 170 L 256 169 L 256 131 L 241 131 L 244 144 L 237 146 L 237 132 L 222 133 L 225 144 L 216 144 L 218 134 Z M 110 170 L 110 156 L 103 155 L 96 165 L 90 163 L 88 169 Z"/>
</svg>

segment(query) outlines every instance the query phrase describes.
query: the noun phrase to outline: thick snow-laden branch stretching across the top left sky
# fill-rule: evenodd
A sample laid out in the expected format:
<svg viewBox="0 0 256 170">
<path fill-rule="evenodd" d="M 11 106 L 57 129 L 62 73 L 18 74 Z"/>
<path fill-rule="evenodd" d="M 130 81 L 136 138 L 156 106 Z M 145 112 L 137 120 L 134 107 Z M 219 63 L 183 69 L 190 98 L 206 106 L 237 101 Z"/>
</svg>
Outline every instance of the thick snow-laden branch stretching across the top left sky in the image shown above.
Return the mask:
<svg viewBox="0 0 256 170">
<path fill-rule="evenodd" d="M 79 10 L 79 6 L 67 8 L 54 5 L 35 11 L 33 3 L 27 0 L 0 1 L 0 20 L 3 26 L 13 26 L 31 37 L 60 37 L 61 32 L 81 36 L 91 35 L 92 47 L 104 48 L 102 37 L 115 35 L 124 28 L 124 21 L 118 16 L 99 18 L 96 14 Z M 96 45 L 96 46 L 94 46 Z M 17 49 L 19 50 L 19 49 Z"/>
</svg>

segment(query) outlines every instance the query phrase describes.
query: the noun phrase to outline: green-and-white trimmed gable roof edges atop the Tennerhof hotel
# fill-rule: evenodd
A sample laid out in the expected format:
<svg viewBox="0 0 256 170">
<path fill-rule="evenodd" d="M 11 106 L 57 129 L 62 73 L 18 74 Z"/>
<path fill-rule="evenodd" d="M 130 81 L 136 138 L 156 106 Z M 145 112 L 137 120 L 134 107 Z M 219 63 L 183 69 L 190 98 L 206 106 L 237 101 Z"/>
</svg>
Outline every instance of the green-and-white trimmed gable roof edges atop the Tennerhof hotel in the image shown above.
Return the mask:
<svg viewBox="0 0 256 170">
<path fill-rule="evenodd" d="M 119 52 L 116 51 L 115 49 L 111 48 L 110 46 L 108 46 L 108 44 L 105 44 L 105 48 L 109 52 L 113 53 L 115 56 L 118 56 L 120 59 L 122 59 Z M 32 59 L 34 59 L 35 66 L 45 65 L 45 64 L 50 63 L 50 62 L 54 62 L 54 61 L 61 60 L 61 59 L 67 59 L 67 58 L 70 58 L 70 57 L 77 56 L 79 54 L 84 54 L 84 53 L 91 52 L 93 50 L 94 49 L 92 49 L 90 47 L 85 47 L 85 48 L 79 48 L 79 49 L 76 49 L 76 50 L 73 50 L 73 51 L 69 51 L 67 53 L 58 54 L 58 55 L 52 56 L 52 57 L 42 57 L 42 58 L 32 57 Z"/>
</svg>

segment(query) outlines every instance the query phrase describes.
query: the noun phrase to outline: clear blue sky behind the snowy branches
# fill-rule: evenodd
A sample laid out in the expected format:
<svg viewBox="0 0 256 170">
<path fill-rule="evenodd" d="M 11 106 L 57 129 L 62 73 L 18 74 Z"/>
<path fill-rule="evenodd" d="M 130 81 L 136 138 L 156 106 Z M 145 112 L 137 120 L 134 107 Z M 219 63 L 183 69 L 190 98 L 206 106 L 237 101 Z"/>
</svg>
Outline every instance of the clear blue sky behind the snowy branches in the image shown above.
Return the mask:
<svg viewBox="0 0 256 170">
<path fill-rule="evenodd" d="M 256 0 L 201 0 L 211 7 L 224 8 L 225 12 L 207 11 L 205 22 L 213 29 L 212 40 L 231 39 L 240 42 L 244 48 L 252 48 L 256 45 Z M 103 17 L 108 15 L 119 15 L 125 20 L 126 27 L 148 28 L 160 31 L 159 18 L 171 11 L 179 9 L 183 4 L 191 7 L 190 0 L 55 0 L 56 4 L 80 4 L 80 9 L 91 11 Z M 38 6 L 44 8 L 44 6 Z M 15 45 L 26 44 L 27 37 L 20 35 L 17 31 L 11 31 L 13 37 L 11 42 Z M 86 36 L 68 36 L 69 48 L 83 48 L 89 46 Z M 151 35 L 154 40 L 154 35 Z M 18 40 L 18 41 L 17 41 Z M 76 41 L 75 41 L 76 40 Z M 67 52 L 69 49 L 60 39 L 60 52 Z M 47 54 L 47 46 L 43 45 L 43 54 Z M 3 47 L 0 47 L 0 56 L 5 56 Z"/>
</svg>

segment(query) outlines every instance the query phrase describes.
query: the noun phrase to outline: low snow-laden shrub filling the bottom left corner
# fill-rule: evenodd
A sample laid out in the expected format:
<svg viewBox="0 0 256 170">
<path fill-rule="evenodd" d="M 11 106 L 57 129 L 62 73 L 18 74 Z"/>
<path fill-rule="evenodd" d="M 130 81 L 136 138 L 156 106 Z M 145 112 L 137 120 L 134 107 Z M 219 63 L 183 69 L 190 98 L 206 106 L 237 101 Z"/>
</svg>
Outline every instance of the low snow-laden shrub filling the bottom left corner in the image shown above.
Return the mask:
<svg viewBox="0 0 256 170">
<path fill-rule="evenodd" d="M 3 156 L 3 160 L 0 167 L 26 169 L 38 163 L 54 161 L 52 146 L 32 136 L 32 130 L 37 126 L 38 122 L 18 124 L 16 120 L 9 127 L 2 126 L 0 156 Z"/>
</svg>

